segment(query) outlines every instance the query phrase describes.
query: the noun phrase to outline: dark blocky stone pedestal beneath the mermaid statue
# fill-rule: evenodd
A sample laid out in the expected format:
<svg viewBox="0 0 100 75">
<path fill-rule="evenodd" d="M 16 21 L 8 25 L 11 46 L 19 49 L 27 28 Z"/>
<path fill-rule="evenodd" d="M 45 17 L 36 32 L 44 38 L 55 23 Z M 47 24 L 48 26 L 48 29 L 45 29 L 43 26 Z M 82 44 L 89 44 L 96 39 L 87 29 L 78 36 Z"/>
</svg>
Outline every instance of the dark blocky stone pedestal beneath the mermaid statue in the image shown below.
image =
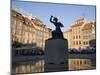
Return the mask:
<svg viewBox="0 0 100 75">
<path fill-rule="evenodd" d="M 66 39 L 48 39 L 45 42 L 45 71 L 68 70 L 68 42 Z"/>
</svg>

